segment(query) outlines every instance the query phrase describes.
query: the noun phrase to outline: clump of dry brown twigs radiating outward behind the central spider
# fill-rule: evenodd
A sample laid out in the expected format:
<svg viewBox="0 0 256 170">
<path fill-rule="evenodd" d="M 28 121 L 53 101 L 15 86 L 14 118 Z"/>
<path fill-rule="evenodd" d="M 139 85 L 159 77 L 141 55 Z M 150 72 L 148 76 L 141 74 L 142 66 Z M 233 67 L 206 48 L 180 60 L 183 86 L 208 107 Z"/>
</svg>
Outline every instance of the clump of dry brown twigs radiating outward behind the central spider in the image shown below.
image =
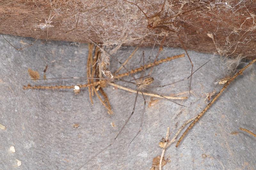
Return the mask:
<svg viewBox="0 0 256 170">
<path fill-rule="evenodd" d="M 108 100 L 108 96 L 106 95 L 106 93 L 104 92 L 103 88 L 106 87 L 108 84 L 109 85 L 112 85 L 116 88 L 119 88 L 119 89 L 124 89 L 124 90 L 127 90 L 127 91 L 130 91 L 130 92 L 135 92 L 134 90 L 132 89 L 128 89 L 128 88 L 125 88 L 123 86 L 120 86 L 120 85 L 117 85 L 113 82 L 109 82 L 108 79 L 102 79 L 102 77 L 100 76 L 100 67 L 97 67 L 96 69 L 96 65 L 97 65 L 97 62 L 100 60 L 100 50 L 98 47 L 96 47 L 95 49 L 95 53 L 94 53 L 94 58 L 92 59 L 92 56 L 93 56 L 93 50 L 92 50 L 92 47 L 93 45 L 92 44 L 89 44 L 89 55 L 88 55 L 88 59 L 87 59 L 87 78 L 84 78 L 84 79 L 87 79 L 88 83 L 87 84 L 78 84 L 78 85 L 71 85 L 71 86 L 31 86 L 30 84 L 28 84 L 28 86 L 24 86 L 23 89 L 74 89 L 74 92 L 75 94 L 78 94 L 80 92 L 80 89 L 81 88 L 85 88 L 85 87 L 88 87 L 88 93 L 89 93 L 89 98 L 91 100 L 91 103 L 93 104 L 92 102 L 92 96 L 93 94 L 95 93 L 96 96 L 99 98 L 100 102 L 104 105 L 104 107 L 107 109 L 108 113 L 109 114 L 112 114 L 112 108 L 111 108 L 111 105 L 109 103 L 109 100 Z M 132 55 L 134 54 L 134 52 L 137 50 L 138 48 L 136 48 L 132 54 L 129 56 L 129 58 L 132 57 Z M 122 66 L 115 72 L 115 76 L 113 77 L 114 80 L 119 80 L 125 76 L 129 76 L 130 74 L 134 74 L 134 73 L 137 73 L 137 72 L 141 72 L 143 71 L 143 67 L 146 69 L 146 68 L 150 68 L 150 67 L 154 67 L 154 66 L 157 66 L 161 63 L 164 63 L 164 62 L 169 62 L 169 61 L 172 61 L 173 59 L 177 59 L 177 58 L 182 58 L 184 57 L 185 55 L 184 54 L 181 54 L 181 55 L 176 55 L 176 56 L 172 56 L 172 57 L 166 57 L 164 59 L 160 59 L 154 63 L 148 63 L 148 64 L 145 64 L 144 66 L 140 66 L 138 68 L 135 68 L 135 69 L 132 69 L 130 70 L 129 72 L 126 72 L 126 73 L 120 73 L 120 74 L 117 74 L 118 73 L 118 70 L 120 70 L 122 68 Z M 91 63 L 91 61 L 93 60 L 93 62 Z M 124 62 L 125 64 L 126 62 Z M 96 77 L 96 78 L 93 78 L 91 79 L 92 77 Z M 76 79 L 78 77 L 75 77 Z M 48 78 L 49 79 L 49 78 Z M 51 78 L 50 78 L 51 79 Z M 56 78 L 54 78 L 56 79 Z M 63 78 L 61 78 L 63 79 Z M 42 79 L 43 80 L 43 79 Z M 44 80 L 46 80 L 46 78 L 44 78 Z M 95 81 L 97 80 L 97 81 Z M 95 86 L 95 90 L 94 90 L 94 87 Z M 76 89 L 78 88 L 78 89 Z M 100 95 L 98 94 L 98 92 L 101 93 L 101 95 L 104 97 L 104 99 L 102 99 L 100 97 Z M 140 92 L 139 92 L 140 94 Z M 156 96 L 155 94 L 152 94 L 152 93 L 144 93 L 145 95 L 149 95 L 149 96 L 153 96 L 153 97 L 159 97 L 159 96 Z M 187 99 L 187 97 L 175 97 L 175 96 L 164 96 L 166 98 L 169 98 L 169 99 L 178 99 L 178 100 L 184 100 L 184 99 Z"/>
</svg>

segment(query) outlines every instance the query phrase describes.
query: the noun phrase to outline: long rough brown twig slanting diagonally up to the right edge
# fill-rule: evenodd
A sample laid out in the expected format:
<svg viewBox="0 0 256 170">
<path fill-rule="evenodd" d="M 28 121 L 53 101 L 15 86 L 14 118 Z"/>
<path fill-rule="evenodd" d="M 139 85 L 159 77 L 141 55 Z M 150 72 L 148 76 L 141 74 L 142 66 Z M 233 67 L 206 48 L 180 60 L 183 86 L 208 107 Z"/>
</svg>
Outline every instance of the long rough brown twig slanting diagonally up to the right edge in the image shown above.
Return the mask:
<svg viewBox="0 0 256 170">
<path fill-rule="evenodd" d="M 185 132 L 181 135 L 179 141 L 178 141 L 177 144 L 176 144 L 176 147 L 179 146 L 181 140 L 182 140 L 182 139 L 184 138 L 184 136 L 188 133 L 189 129 L 191 129 L 191 128 L 194 126 L 194 124 L 204 115 L 204 113 L 211 107 L 211 105 L 217 100 L 217 98 L 220 97 L 220 95 L 221 95 L 222 92 L 228 87 L 228 85 L 229 85 L 232 81 L 234 81 L 235 78 L 236 78 L 238 75 L 242 74 L 243 71 L 244 71 L 247 67 L 251 66 L 255 61 L 256 61 L 256 59 L 252 60 L 249 64 L 247 64 L 244 68 L 242 68 L 239 72 L 237 72 L 233 77 L 231 77 L 231 78 L 229 79 L 229 81 L 223 86 L 223 88 L 220 90 L 220 92 L 212 99 L 212 101 L 204 108 L 204 110 L 196 116 L 196 118 L 194 119 L 194 121 L 189 125 L 189 127 L 188 127 L 188 128 L 185 130 Z"/>
</svg>

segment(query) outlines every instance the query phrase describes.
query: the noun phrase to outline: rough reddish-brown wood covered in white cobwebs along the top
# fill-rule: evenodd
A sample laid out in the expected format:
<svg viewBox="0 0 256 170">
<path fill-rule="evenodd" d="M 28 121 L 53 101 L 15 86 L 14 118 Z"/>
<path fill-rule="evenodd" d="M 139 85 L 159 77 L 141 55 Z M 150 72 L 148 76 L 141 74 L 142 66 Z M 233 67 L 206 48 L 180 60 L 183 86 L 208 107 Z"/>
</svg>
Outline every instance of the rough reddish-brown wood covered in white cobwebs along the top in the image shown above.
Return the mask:
<svg viewBox="0 0 256 170">
<path fill-rule="evenodd" d="M 159 12 L 164 3 L 163 0 L 133 2 L 148 16 Z M 169 20 L 172 22 L 169 27 L 179 31 L 188 49 L 222 56 L 255 56 L 255 1 L 167 0 L 161 19 L 198 5 L 199 9 Z M 79 10 L 77 28 L 66 33 L 76 26 Z M 49 28 L 49 40 L 88 43 L 90 36 L 109 47 L 120 43 L 150 46 L 157 34 L 160 35 L 158 43 L 165 35 L 163 30 L 149 30 L 148 21 L 138 7 L 122 0 L 0 1 L 0 33 L 34 38 L 41 35 L 40 39 L 46 39 L 46 29 L 40 30 L 38 25 L 45 23 L 50 13 L 54 27 Z M 181 44 L 177 35 L 169 32 L 164 46 L 180 47 Z"/>
</svg>

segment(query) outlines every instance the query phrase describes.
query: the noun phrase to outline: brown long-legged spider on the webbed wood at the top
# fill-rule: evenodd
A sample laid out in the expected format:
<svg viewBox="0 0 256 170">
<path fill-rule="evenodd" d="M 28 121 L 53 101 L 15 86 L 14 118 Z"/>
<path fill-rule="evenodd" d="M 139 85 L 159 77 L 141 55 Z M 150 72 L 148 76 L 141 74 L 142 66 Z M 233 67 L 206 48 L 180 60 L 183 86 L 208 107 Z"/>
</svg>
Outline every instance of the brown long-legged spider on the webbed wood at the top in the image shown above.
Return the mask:
<svg viewBox="0 0 256 170">
<path fill-rule="evenodd" d="M 144 16 L 145 16 L 145 17 L 147 18 L 147 20 L 148 20 L 148 26 L 147 26 L 147 27 L 148 27 L 149 29 L 156 29 L 156 28 L 159 28 L 159 29 L 164 29 L 164 30 L 167 30 L 167 31 L 176 33 L 176 35 L 178 36 L 179 41 L 180 41 L 180 43 L 181 43 L 183 49 L 185 50 L 185 52 L 186 52 L 186 54 L 187 54 L 187 56 L 188 56 L 188 59 L 189 59 L 189 61 L 190 61 L 190 63 L 191 63 L 191 66 L 192 66 L 192 68 L 191 68 L 191 74 L 192 74 L 192 73 L 193 73 L 193 66 L 194 66 L 194 65 L 193 65 L 193 62 L 191 61 L 191 59 L 190 59 L 190 57 L 189 57 L 189 55 L 188 55 L 188 51 L 187 51 L 187 49 L 186 49 L 186 47 L 185 47 L 183 41 L 181 40 L 178 31 L 177 31 L 177 30 L 174 30 L 174 29 L 171 29 L 171 28 L 168 26 L 168 24 L 172 24 L 173 22 L 166 22 L 166 21 L 169 21 L 170 19 L 175 18 L 175 17 L 177 17 L 177 16 L 180 16 L 180 15 L 182 15 L 182 14 L 184 14 L 184 13 L 191 12 L 191 11 L 193 11 L 193 10 L 196 10 L 196 9 L 198 9 L 199 7 L 192 8 L 192 9 L 190 9 L 190 10 L 188 10 L 188 11 L 181 12 L 181 13 L 179 13 L 179 14 L 177 14 L 177 15 L 174 15 L 174 16 L 171 16 L 171 17 L 167 17 L 167 18 L 164 18 L 164 19 L 161 19 L 160 16 L 161 16 L 161 14 L 162 14 L 162 12 L 163 12 L 163 10 L 164 10 L 164 5 L 165 5 L 166 0 L 164 0 L 164 4 L 163 4 L 161 10 L 160 10 L 159 12 L 155 13 L 154 15 L 150 16 L 150 17 L 140 8 L 140 6 L 139 6 L 138 4 L 133 3 L 133 2 L 130 2 L 130 1 L 127 1 L 127 0 L 124 0 L 124 1 L 127 2 L 127 3 L 130 3 L 130 4 L 133 4 L 133 5 L 136 5 L 136 6 L 140 9 L 140 11 L 144 14 Z M 166 36 L 166 35 L 165 35 L 165 36 Z M 164 39 L 165 39 L 165 37 L 164 37 Z M 191 81 L 192 81 L 192 76 L 190 77 L 189 94 L 190 94 L 190 89 L 191 89 Z M 191 96 L 191 94 L 190 94 L 190 96 Z"/>
</svg>

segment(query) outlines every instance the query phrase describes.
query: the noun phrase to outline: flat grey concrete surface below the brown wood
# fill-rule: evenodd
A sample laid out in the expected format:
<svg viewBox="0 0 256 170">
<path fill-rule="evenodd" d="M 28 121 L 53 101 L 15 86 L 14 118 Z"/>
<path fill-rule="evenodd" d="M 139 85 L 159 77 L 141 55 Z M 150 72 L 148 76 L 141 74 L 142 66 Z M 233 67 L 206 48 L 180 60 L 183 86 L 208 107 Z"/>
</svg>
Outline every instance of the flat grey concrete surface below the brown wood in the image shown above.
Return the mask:
<svg viewBox="0 0 256 170">
<path fill-rule="evenodd" d="M 33 41 L 5 37 L 16 46 L 22 45 L 20 40 Z M 24 80 L 29 78 L 28 68 L 43 77 L 45 64 L 53 60 L 48 65 L 47 78 L 85 76 L 87 44 L 78 47 L 70 43 L 38 41 L 17 51 L 1 36 L 0 123 L 6 130 L 0 129 L 0 169 L 149 169 L 153 158 L 162 152 L 158 142 L 165 136 L 167 127 L 172 137 L 186 120 L 204 109 L 205 94 L 214 89 L 219 91 L 221 86 L 216 82 L 225 75 L 225 65 L 219 56 L 189 51 L 195 68 L 212 59 L 193 75 L 192 97 L 188 95 L 189 81 L 154 89 L 163 95 L 186 92 L 189 98 L 176 102 L 188 107 L 164 99 L 152 107 L 147 103 L 142 131 L 128 147 L 140 126 L 143 98 L 139 95 L 134 115 L 114 144 L 87 162 L 113 141 L 132 112 L 135 94 L 111 86 L 105 88 L 114 111 L 108 115 L 98 98 L 93 98 L 93 105 L 90 103 L 86 88 L 79 95 L 72 89 L 23 90 L 23 85 L 28 83 L 53 86 L 85 83 L 78 79 Z M 122 48 L 115 56 L 124 61 L 133 49 Z M 140 48 L 127 67 L 140 66 L 142 50 L 148 56 L 151 48 Z M 183 52 L 164 48 L 159 58 Z M 111 70 L 118 67 L 111 60 Z M 186 57 L 156 66 L 152 72 L 154 85 L 180 80 L 189 75 L 190 68 Z M 165 158 L 170 162 L 164 169 L 256 169 L 256 138 L 239 130 L 242 127 L 256 132 L 255 75 L 256 66 L 252 65 L 230 84 L 178 148 L 173 144 L 166 150 Z M 123 82 L 116 83 L 135 89 Z M 146 100 L 149 102 L 150 97 Z M 110 122 L 115 122 L 116 127 Z M 75 123 L 80 126 L 73 128 Z M 15 146 L 15 153 L 10 153 L 11 145 Z M 15 159 L 22 165 L 18 167 Z"/>
</svg>

